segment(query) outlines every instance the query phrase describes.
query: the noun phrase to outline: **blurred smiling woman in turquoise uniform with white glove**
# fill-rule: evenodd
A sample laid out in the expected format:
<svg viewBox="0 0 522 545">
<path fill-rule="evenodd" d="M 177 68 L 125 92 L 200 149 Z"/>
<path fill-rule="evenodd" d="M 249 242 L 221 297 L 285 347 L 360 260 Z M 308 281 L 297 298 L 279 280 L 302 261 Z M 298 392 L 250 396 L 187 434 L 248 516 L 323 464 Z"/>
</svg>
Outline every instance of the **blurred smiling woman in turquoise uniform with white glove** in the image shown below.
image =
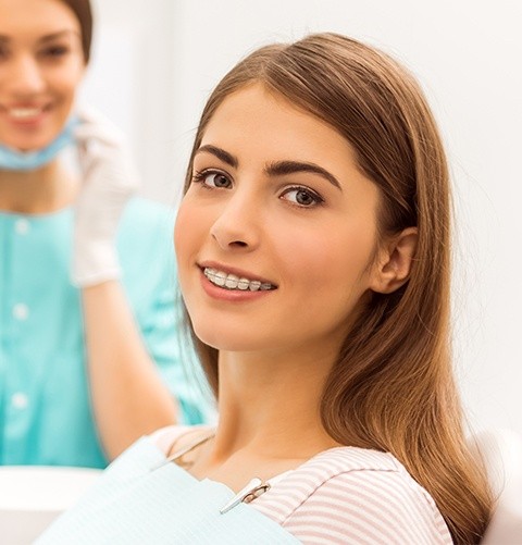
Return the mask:
<svg viewBox="0 0 522 545">
<path fill-rule="evenodd" d="M 126 207 L 137 184 L 121 136 L 76 111 L 91 32 L 88 0 L 0 0 L 1 465 L 104 467 L 159 425 L 199 421 L 169 213 Z M 59 160 L 67 144 L 79 179 Z"/>
</svg>

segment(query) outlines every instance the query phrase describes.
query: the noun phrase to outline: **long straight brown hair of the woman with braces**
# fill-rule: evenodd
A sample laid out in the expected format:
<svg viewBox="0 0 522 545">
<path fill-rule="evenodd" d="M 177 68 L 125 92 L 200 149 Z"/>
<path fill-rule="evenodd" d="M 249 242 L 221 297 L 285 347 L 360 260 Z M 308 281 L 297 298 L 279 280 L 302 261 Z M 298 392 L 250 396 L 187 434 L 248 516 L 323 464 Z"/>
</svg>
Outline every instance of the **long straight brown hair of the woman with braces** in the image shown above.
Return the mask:
<svg viewBox="0 0 522 545">
<path fill-rule="evenodd" d="M 455 543 L 477 543 L 490 517 L 485 473 L 470 454 L 449 346 L 450 189 L 438 129 L 414 77 L 387 54 L 320 34 L 263 47 L 217 85 L 202 112 L 195 151 L 216 108 L 250 83 L 338 131 L 380 188 L 381 235 L 419 231 L 407 284 L 372 294 L 327 377 L 321 417 L 337 442 L 390 451 L 424 486 Z M 190 329 L 191 330 L 191 329 Z M 217 392 L 217 351 L 195 337 Z"/>
</svg>

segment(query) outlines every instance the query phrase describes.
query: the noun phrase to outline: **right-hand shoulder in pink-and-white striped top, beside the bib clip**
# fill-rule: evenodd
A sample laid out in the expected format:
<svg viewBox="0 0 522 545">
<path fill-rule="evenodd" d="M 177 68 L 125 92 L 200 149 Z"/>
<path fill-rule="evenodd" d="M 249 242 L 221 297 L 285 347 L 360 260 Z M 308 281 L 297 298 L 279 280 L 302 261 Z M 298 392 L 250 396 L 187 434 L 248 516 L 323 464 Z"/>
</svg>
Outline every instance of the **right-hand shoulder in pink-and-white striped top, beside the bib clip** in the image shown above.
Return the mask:
<svg viewBox="0 0 522 545">
<path fill-rule="evenodd" d="M 303 543 L 450 544 L 432 497 L 391 455 L 340 447 L 276 481 L 262 512 Z M 321 541 L 321 540 L 319 540 Z"/>
</svg>

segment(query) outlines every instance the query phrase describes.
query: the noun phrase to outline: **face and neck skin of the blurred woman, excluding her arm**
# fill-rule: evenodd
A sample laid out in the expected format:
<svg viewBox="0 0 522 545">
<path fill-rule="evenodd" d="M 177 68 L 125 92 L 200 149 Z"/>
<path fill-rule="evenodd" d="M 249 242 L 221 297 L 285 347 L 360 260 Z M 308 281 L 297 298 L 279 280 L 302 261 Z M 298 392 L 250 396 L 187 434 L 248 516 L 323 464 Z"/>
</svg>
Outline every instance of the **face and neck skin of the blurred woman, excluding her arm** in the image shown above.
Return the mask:
<svg viewBox="0 0 522 545">
<path fill-rule="evenodd" d="M 28 17 L 27 14 L 32 14 Z M 84 72 L 79 23 L 58 0 L 0 1 L 0 141 L 45 147 L 69 117 Z M 16 117 L 16 109 L 35 110 Z M 24 191 L 20 191 L 24 184 Z M 77 182 L 55 162 L 36 172 L 0 171 L 0 207 L 26 213 L 72 202 Z"/>
</svg>

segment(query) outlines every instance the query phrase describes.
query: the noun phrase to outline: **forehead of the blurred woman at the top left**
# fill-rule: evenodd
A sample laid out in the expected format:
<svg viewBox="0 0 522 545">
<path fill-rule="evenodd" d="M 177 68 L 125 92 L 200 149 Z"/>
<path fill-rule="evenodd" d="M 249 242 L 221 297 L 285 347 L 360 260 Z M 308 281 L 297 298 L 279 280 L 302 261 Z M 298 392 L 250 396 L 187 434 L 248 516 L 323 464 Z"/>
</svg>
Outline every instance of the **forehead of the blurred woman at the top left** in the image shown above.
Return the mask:
<svg viewBox="0 0 522 545">
<path fill-rule="evenodd" d="M 79 33 L 79 21 L 61 0 L 0 0 L 0 35 L 33 37 L 62 30 Z"/>
</svg>

